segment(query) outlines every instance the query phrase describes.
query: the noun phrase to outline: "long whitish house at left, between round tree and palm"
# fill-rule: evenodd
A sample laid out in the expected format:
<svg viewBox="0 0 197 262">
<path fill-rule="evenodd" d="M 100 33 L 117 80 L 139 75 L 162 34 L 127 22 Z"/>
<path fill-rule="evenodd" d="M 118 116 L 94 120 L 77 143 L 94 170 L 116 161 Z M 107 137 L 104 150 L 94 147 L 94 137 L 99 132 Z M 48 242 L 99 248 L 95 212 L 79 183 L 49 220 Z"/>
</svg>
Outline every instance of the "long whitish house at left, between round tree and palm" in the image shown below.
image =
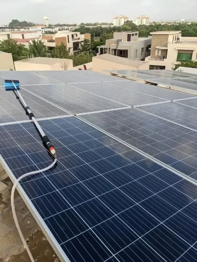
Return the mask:
<svg viewBox="0 0 197 262">
<path fill-rule="evenodd" d="M 28 47 L 32 40 L 41 40 L 42 31 L 15 31 L 11 32 L 10 38 Z"/>
</svg>

